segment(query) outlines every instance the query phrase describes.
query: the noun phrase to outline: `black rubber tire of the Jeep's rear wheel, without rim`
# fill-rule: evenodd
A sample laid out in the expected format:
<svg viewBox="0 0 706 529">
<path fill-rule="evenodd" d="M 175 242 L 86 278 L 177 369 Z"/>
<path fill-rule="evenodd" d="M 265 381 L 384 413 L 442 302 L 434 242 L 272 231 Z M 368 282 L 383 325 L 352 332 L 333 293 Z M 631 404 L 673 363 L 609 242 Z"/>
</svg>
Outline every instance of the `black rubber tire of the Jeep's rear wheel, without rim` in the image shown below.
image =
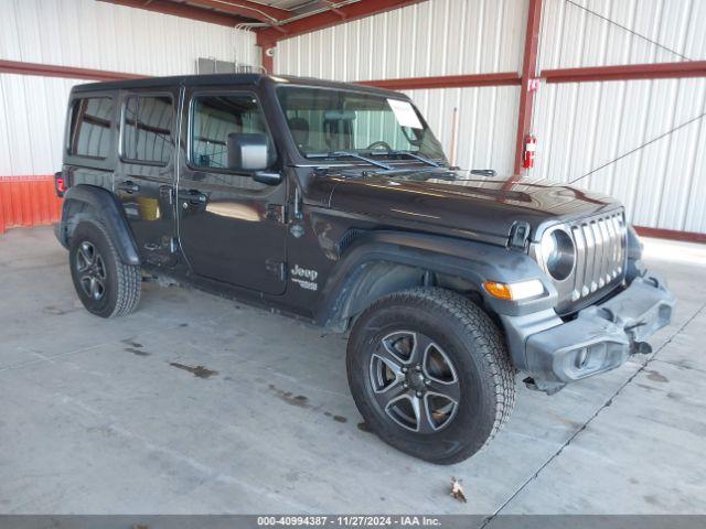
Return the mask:
<svg viewBox="0 0 706 529">
<path fill-rule="evenodd" d="M 77 255 L 82 242 L 89 242 L 105 264 L 105 293 L 93 299 L 81 284 Z M 132 312 L 140 301 L 142 288 L 141 269 L 138 264 L 126 264 L 120 260 L 106 228 L 95 220 L 82 220 L 71 236 L 68 262 L 78 299 L 88 312 L 100 317 L 122 316 Z"/>
</svg>

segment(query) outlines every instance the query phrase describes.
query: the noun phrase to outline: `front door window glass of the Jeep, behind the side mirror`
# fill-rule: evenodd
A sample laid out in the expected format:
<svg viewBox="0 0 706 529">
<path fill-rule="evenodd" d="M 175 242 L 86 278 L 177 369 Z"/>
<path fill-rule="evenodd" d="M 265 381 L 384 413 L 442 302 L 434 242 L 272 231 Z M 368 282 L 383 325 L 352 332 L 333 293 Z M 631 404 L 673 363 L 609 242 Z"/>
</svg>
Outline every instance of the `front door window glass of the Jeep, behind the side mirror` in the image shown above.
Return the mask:
<svg viewBox="0 0 706 529">
<path fill-rule="evenodd" d="M 194 97 L 191 130 L 191 162 L 194 166 L 227 169 L 228 134 L 234 132 L 259 133 L 269 138 L 257 99 L 246 94 Z"/>
</svg>

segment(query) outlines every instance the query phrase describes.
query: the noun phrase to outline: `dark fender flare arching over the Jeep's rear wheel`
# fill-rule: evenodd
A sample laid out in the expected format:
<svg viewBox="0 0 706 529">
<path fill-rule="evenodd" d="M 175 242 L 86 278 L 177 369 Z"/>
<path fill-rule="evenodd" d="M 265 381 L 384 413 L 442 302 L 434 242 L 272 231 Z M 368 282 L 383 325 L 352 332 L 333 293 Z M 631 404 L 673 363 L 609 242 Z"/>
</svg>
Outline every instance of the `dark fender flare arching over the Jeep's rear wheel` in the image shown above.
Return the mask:
<svg viewBox="0 0 706 529">
<path fill-rule="evenodd" d="M 62 219 L 56 230 L 56 237 L 64 247 L 68 247 L 68 228 L 72 227 L 72 224 L 75 224 L 69 215 L 73 205 L 76 203 L 88 206 L 87 212 L 84 210 L 77 214 L 79 217 L 95 218 L 105 226 L 122 262 L 126 264 L 140 264 L 140 256 L 122 206 L 113 193 L 95 185 L 75 185 L 64 194 Z"/>
</svg>

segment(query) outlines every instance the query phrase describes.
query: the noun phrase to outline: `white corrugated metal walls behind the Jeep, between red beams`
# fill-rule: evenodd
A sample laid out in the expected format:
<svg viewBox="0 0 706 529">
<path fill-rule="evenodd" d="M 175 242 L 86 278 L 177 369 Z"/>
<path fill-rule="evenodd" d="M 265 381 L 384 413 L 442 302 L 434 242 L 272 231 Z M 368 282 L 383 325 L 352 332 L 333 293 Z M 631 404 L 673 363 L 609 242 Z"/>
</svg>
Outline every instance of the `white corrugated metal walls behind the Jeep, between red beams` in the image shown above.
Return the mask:
<svg viewBox="0 0 706 529">
<path fill-rule="evenodd" d="M 429 0 L 281 41 L 276 72 L 336 80 L 518 72 L 527 4 Z M 539 66 L 704 60 L 704 0 L 544 0 Z M 199 56 L 258 64 L 254 44 L 247 32 L 93 0 L 0 1 L 6 60 L 168 75 L 193 72 Z M 0 74 L 0 175 L 51 174 L 61 165 L 75 83 Z M 447 152 L 458 112 L 458 164 L 512 171 L 517 87 L 409 95 Z M 543 84 L 531 176 L 574 180 L 704 111 L 703 78 Z M 705 128 L 704 119 L 695 121 L 580 184 L 622 199 L 635 224 L 706 231 Z"/>
</svg>

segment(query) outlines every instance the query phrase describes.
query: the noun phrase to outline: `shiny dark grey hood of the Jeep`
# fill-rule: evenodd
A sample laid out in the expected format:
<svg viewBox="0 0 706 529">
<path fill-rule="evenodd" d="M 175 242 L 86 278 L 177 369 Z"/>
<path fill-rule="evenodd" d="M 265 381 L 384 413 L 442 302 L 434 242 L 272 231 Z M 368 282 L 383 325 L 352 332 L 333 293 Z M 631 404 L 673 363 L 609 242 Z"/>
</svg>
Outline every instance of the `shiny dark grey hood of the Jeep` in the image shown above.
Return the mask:
<svg viewBox="0 0 706 529">
<path fill-rule="evenodd" d="M 446 175 L 446 177 L 445 177 Z M 446 180 L 456 175 L 456 180 Z M 425 224 L 504 244 L 516 222 L 537 240 L 546 226 L 620 207 L 609 196 L 545 180 L 468 179 L 466 172 L 429 171 L 331 175 L 336 184 L 330 207 L 387 224 Z M 443 180 L 442 180 L 443 179 Z M 435 231 L 438 229 L 434 229 Z"/>
</svg>

